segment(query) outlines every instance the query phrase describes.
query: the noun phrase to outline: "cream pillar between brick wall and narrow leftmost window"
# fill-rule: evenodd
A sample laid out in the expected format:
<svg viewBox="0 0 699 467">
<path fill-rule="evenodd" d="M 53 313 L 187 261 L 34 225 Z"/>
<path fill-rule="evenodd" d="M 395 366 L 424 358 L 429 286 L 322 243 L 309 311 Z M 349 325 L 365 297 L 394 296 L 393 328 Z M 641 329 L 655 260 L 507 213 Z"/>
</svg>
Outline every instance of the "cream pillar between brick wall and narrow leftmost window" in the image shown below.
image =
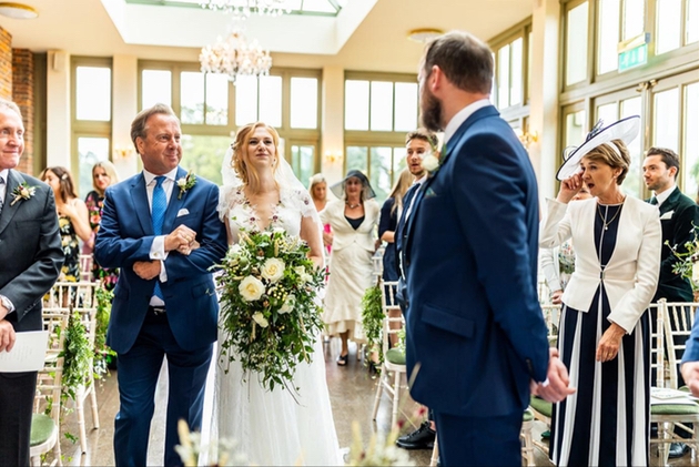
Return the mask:
<svg viewBox="0 0 699 467">
<path fill-rule="evenodd" d="M 47 65 L 47 165 L 71 169 L 70 55 L 51 50 Z"/>
</svg>

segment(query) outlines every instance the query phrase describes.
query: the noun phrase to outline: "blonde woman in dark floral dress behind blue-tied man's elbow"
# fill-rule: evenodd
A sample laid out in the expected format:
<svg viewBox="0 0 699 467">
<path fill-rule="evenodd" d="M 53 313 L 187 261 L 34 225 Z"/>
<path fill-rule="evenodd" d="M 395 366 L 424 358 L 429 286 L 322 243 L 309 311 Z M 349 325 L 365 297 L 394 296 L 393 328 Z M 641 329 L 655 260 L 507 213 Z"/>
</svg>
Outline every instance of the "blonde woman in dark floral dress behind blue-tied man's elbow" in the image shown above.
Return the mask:
<svg viewBox="0 0 699 467">
<path fill-rule="evenodd" d="M 104 190 L 108 186 L 119 183 L 119 175 L 114 164 L 109 161 L 101 161 L 92 167 L 92 186 L 93 191 L 85 196 L 85 205 L 88 206 L 88 216 L 90 219 L 90 229 L 92 229 L 92 237 L 90 242 L 85 242 L 82 248 L 83 254 L 92 254 L 94 248 L 94 238 L 100 230 L 102 222 L 102 205 L 104 203 Z M 92 263 L 92 276 L 95 281 L 102 281 L 104 288 L 111 291 L 116 285 L 119 278 L 119 270 L 105 270 L 97 262 Z"/>
</svg>

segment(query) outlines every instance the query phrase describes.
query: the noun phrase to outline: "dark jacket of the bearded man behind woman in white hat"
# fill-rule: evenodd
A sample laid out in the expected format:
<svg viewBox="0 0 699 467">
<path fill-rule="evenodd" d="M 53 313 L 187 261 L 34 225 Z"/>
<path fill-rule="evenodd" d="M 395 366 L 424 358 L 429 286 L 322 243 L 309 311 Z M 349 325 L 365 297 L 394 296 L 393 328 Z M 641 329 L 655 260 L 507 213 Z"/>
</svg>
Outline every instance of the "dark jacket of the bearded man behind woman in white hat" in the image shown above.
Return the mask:
<svg viewBox="0 0 699 467">
<path fill-rule="evenodd" d="M 652 301 L 666 298 L 668 302 L 692 302 L 695 294 L 691 284 L 688 278 L 672 272 L 679 260 L 665 242 L 677 245 L 678 252 L 687 252 L 685 244 L 695 241 L 695 225 L 699 226 L 699 206 L 682 194 L 679 187 L 675 187 L 660 205 L 660 223 L 662 224 L 660 278 Z"/>
</svg>

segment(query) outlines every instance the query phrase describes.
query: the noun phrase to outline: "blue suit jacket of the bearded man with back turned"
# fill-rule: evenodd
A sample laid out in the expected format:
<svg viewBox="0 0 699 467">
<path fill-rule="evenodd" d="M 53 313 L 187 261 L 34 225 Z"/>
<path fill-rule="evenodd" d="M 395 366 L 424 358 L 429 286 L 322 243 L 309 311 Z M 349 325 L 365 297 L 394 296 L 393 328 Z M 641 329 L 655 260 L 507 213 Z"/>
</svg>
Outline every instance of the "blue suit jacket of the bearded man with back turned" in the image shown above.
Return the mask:
<svg viewBox="0 0 699 467">
<path fill-rule="evenodd" d="M 492 105 L 447 148 L 405 226 L 411 394 L 457 416 L 509 415 L 525 409 L 530 378 L 545 380 L 548 366 L 536 177 Z"/>
</svg>

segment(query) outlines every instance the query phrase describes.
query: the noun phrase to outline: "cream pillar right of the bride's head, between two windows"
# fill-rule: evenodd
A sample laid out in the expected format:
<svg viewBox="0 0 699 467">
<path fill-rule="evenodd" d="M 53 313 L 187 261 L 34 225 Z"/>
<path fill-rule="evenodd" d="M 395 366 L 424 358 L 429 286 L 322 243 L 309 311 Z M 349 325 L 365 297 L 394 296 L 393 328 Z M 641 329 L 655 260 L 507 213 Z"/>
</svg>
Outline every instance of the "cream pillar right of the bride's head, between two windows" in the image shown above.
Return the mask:
<svg viewBox="0 0 699 467">
<path fill-rule="evenodd" d="M 328 185 L 343 177 L 344 160 L 344 100 L 345 70 L 342 67 L 323 68 L 323 116 L 321 129 L 323 141 L 321 144 L 322 172 Z M 334 158 L 334 162 L 331 159 Z"/>
</svg>

